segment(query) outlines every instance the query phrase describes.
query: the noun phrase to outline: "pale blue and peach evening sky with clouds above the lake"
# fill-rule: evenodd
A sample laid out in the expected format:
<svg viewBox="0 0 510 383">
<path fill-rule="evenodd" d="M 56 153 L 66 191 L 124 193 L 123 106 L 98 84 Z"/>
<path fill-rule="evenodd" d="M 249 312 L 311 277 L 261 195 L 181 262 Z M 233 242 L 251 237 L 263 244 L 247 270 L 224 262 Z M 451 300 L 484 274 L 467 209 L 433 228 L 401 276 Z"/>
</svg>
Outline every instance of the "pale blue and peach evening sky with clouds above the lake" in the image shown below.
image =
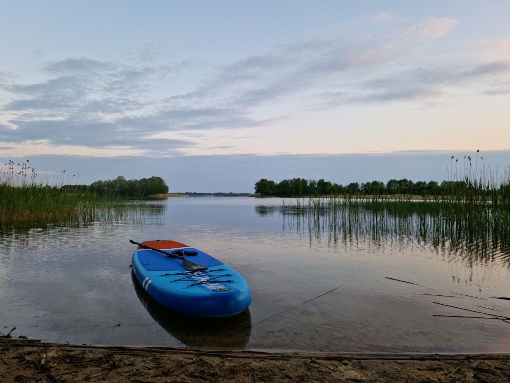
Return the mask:
<svg viewBox="0 0 510 383">
<path fill-rule="evenodd" d="M 0 0 L 0 46 L 0 161 L 46 179 L 250 193 L 510 164 L 506 0 Z"/>
</svg>

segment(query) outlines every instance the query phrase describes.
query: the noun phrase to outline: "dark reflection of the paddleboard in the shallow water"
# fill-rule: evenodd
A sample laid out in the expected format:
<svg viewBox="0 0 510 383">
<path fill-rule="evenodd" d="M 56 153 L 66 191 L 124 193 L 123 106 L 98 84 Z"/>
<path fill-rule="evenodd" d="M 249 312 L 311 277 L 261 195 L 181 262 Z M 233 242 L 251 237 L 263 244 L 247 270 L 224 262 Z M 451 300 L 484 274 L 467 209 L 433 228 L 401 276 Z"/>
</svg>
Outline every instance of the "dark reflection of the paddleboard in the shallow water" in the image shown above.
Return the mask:
<svg viewBox="0 0 510 383">
<path fill-rule="evenodd" d="M 131 280 L 138 299 L 152 319 L 186 346 L 239 349 L 248 343 L 251 335 L 249 308 L 230 318 L 192 317 L 177 313 L 150 297 L 133 272 Z"/>
</svg>

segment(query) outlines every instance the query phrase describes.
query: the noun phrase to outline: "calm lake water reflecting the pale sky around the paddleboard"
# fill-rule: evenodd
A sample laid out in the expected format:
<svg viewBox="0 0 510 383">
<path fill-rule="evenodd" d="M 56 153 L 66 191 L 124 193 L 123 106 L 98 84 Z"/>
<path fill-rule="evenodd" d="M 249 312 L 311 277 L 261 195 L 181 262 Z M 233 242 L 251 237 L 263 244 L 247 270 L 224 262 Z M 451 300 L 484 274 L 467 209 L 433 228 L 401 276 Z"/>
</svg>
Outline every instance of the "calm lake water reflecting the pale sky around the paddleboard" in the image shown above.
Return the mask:
<svg viewBox="0 0 510 383">
<path fill-rule="evenodd" d="M 510 300 L 493 298 L 510 296 L 510 257 L 501 247 L 451 246 L 451 238 L 429 241 L 408 227 L 339 231 L 282 205 L 280 198 L 169 198 L 122 219 L 5 225 L 0 331 L 99 345 L 510 351 L 503 320 Z M 154 302 L 132 278 L 129 240 L 156 238 L 197 247 L 240 272 L 253 293 L 247 312 L 189 318 Z"/>
</svg>

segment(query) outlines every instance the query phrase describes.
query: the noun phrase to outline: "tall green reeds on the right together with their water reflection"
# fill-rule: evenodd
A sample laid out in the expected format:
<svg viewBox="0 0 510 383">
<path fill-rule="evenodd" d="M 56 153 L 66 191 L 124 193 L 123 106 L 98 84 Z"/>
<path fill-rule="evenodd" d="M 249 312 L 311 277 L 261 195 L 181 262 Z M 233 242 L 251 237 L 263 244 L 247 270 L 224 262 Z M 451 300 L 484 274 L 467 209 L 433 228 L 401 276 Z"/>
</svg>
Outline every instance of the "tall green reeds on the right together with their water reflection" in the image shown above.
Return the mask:
<svg viewBox="0 0 510 383">
<path fill-rule="evenodd" d="M 497 176 L 488 166 L 466 172 L 462 182 L 451 183 L 446 196 L 297 199 L 284 202 L 281 211 L 288 225 L 315 235 L 327 233 L 333 242 L 361 236 L 375 241 L 418 238 L 453 251 L 510 255 L 510 169 Z"/>
</svg>

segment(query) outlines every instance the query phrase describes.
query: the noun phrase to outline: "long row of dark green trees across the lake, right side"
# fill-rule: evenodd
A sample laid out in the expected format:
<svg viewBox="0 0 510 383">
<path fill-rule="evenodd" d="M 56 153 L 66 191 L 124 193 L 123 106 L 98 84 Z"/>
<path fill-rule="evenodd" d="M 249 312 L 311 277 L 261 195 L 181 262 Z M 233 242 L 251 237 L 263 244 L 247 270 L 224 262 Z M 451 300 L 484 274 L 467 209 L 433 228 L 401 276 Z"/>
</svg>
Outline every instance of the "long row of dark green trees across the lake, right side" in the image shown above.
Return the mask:
<svg viewBox="0 0 510 383">
<path fill-rule="evenodd" d="M 305 180 L 293 178 L 279 183 L 262 178 L 255 183 L 255 193 L 261 196 L 275 197 L 301 197 L 325 195 L 420 195 L 441 196 L 452 192 L 462 192 L 468 187 L 464 181 L 418 181 L 413 182 L 406 178 L 391 179 L 386 184 L 381 181 L 351 182 L 348 185 L 339 185 L 320 179 Z"/>
</svg>

